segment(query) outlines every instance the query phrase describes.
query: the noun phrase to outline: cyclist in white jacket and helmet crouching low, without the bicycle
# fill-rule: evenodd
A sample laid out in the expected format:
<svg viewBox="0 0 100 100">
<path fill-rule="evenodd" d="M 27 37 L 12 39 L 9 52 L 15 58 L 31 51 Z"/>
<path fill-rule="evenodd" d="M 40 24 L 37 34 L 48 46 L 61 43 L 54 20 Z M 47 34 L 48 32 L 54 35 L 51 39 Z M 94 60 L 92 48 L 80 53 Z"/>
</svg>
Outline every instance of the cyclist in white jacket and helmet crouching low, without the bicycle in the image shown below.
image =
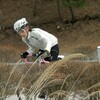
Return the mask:
<svg viewBox="0 0 100 100">
<path fill-rule="evenodd" d="M 26 18 L 21 18 L 14 23 L 14 30 L 22 37 L 29 49 L 21 54 L 21 58 L 27 58 L 36 48 L 39 49 L 38 57 L 43 55 L 46 61 L 56 61 L 59 55 L 58 39 L 53 34 L 40 28 L 31 28 Z"/>
</svg>

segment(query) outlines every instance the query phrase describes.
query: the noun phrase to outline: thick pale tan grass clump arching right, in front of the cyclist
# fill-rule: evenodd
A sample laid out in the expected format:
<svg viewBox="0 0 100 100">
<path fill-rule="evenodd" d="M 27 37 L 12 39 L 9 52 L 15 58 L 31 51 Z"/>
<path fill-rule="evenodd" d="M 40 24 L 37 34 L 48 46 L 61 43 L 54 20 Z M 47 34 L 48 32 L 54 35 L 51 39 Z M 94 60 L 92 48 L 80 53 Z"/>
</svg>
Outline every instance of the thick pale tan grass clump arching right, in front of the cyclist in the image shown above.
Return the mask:
<svg viewBox="0 0 100 100">
<path fill-rule="evenodd" d="M 84 56 L 82 54 L 72 54 L 67 56 L 64 60 L 54 62 L 52 65 L 50 65 L 43 73 L 42 75 L 38 78 L 38 80 L 31 86 L 29 92 L 27 95 L 33 94 L 37 95 L 48 83 L 49 79 L 52 77 L 52 75 L 58 70 L 59 67 L 64 62 L 67 62 L 68 60 L 74 58 L 74 57 L 80 57 Z"/>
</svg>

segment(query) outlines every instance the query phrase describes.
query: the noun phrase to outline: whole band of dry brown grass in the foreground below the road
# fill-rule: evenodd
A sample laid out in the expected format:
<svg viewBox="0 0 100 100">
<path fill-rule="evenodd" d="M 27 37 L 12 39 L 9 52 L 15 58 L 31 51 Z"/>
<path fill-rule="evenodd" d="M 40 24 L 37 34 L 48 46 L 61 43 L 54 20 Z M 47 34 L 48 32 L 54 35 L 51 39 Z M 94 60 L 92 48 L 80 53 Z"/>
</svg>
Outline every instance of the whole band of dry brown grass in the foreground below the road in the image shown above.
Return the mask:
<svg viewBox="0 0 100 100">
<path fill-rule="evenodd" d="M 50 97 L 61 98 L 78 90 L 89 92 L 83 100 L 96 96 L 100 92 L 100 64 L 82 62 L 77 59 L 80 57 L 84 55 L 71 54 L 41 67 L 0 65 L 1 95 L 7 95 L 8 91 L 14 94 L 19 89 L 27 96 L 45 91 Z"/>
</svg>

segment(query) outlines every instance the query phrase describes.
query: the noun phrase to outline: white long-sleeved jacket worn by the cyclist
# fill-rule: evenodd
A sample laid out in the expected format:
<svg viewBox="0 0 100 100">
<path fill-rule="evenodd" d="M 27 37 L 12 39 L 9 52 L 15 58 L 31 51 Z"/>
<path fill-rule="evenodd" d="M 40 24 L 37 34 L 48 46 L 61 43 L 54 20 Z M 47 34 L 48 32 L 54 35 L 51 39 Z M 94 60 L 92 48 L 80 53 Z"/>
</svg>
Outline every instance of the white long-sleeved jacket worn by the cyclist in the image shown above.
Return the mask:
<svg viewBox="0 0 100 100">
<path fill-rule="evenodd" d="M 58 39 L 54 35 L 39 28 L 33 28 L 32 31 L 28 33 L 28 37 L 22 37 L 22 40 L 29 47 L 27 50 L 28 53 L 33 53 L 35 48 L 50 52 L 51 48 L 58 44 Z"/>
</svg>

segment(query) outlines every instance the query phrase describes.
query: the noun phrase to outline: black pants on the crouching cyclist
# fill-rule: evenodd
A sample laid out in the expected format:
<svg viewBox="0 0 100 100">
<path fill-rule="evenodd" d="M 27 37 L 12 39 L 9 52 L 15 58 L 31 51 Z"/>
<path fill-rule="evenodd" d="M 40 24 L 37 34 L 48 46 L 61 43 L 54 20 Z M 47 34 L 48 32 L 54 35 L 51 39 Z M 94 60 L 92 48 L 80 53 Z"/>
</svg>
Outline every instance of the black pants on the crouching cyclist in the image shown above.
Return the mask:
<svg viewBox="0 0 100 100">
<path fill-rule="evenodd" d="M 44 50 L 40 50 L 40 51 L 44 51 Z M 50 57 L 44 58 L 46 61 L 56 61 L 56 60 L 58 60 L 58 55 L 59 55 L 59 46 L 58 46 L 58 44 L 54 45 L 51 48 L 50 54 L 51 54 Z"/>
</svg>

